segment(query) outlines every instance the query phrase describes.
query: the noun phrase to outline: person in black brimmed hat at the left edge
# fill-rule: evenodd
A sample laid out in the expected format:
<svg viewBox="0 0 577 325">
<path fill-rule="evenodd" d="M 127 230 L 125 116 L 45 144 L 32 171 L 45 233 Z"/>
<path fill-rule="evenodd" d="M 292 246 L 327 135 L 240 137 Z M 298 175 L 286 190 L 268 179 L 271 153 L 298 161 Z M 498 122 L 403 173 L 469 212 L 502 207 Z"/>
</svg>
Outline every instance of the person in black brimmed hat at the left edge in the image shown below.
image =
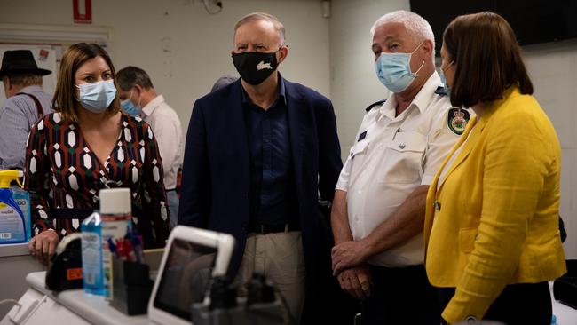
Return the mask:
<svg viewBox="0 0 577 325">
<path fill-rule="evenodd" d="M 38 68 L 29 50 L 4 52 L 0 79 L 6 100 L 0 110 L 0 170 L 24 169 L 30 126 L 52 113 L 51 95 L 42 89 L 42 76 L 51 71 Z"/>
</svg>

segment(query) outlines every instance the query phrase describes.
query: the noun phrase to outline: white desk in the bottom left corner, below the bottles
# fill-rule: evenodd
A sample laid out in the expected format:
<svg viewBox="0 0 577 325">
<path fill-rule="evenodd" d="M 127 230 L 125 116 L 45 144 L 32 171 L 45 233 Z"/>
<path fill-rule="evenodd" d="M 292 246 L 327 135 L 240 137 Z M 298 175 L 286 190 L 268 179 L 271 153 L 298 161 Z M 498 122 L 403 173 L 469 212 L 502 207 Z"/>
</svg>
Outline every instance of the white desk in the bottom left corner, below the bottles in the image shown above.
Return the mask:
<svg viewBox="0 0 577 325">
<path fill-rule="evenodd" d="M 45 289 L 45 276 L 45 272 L 35 272 L 29 273 L 26 277 L 30 289 L 20 298 L 20 304 L 26 305 L 34 300 L 41 301 L 36 311 L 25 322 L 27 325 L 144 325 L 152 323 L 146 315 L 125 315 L 109 306 L 104 297 L 85 294 L 83 289 L 65 290 L 60 293 Z M 0 321 L 0 325 L 14 325 L 9 316 L 17 310 L 18 308 L 13 307 Z"/>
</svg>

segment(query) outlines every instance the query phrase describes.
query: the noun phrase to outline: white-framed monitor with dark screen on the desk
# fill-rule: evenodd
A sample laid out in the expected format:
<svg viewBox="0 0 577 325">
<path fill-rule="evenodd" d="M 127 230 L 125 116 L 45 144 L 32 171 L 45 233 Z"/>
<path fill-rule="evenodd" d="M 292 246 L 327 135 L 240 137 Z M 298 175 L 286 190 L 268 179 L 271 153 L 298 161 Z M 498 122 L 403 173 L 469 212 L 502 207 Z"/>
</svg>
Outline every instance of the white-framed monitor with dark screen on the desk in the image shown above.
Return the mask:
<svg viewBox="0 0 577 325">
<path fill-rule="evenodd" d="M 210 279 L 225 276 L 234 238 L 190 226 L 170 233 L 148 302 L 148 317 L 161 324 L 190 324 L 191 306 L 202 302 Z"/>
</svg>

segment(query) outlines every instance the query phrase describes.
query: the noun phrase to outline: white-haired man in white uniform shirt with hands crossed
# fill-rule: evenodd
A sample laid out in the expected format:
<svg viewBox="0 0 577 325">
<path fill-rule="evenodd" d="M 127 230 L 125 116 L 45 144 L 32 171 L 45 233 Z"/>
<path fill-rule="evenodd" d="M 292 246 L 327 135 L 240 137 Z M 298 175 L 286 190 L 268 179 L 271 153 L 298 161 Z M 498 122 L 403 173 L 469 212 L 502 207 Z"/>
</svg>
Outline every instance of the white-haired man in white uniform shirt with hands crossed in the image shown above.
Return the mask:
<svg viewBox="0 0 577 325">
<path fill-rule="evenodd" d="M 333 273 L 364 300 L 363 325 L 437 325 L 423 266 L 425 197 L 469 113 L 451 108 L 426 20 L 391 12 L 371 32 L 376 75 L 391 94 L 366 109 L 336 186 Z"/>
</svg>

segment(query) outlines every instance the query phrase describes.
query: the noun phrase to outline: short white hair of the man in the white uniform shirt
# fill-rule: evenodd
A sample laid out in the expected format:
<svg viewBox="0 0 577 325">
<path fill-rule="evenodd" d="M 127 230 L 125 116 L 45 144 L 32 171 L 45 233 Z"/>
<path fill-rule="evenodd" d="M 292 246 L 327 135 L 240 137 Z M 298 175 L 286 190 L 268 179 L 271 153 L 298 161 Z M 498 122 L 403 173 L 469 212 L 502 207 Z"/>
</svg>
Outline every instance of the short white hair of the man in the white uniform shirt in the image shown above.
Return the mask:
<svg viewBox="0 0 577 325">
<path fill-rule="evenodd" d="M 375 21 L 371 28 L 371 35 L 375 36 L 376 28 L 380 28 L 386 23 L 399 22 L 407 28 L 408 33 L 413 36 L 416 44 L 420 44 L 424 40 L 430 40 L 433 44 L 432 59 L 435 58 L 435 35 L 432 32 L 431 25 L 423 17 L 415 12 L 407 12 L 399 10 L 396 12 L 389 12 Z"/>
</svg>

